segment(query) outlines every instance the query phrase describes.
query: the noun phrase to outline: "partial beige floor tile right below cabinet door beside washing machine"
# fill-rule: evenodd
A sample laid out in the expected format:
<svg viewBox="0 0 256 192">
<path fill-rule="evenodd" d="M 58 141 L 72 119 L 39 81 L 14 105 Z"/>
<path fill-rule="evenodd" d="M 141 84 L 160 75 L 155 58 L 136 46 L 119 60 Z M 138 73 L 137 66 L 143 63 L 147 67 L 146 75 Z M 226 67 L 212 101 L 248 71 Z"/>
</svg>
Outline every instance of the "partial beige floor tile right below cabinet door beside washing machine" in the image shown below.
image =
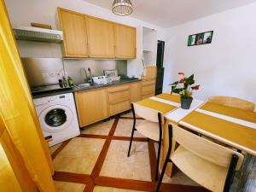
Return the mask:
<svg viewBox="0 0 256 192">
<path fill-rule="evenodd" d="M 108 136 L 108 133 L 113 125 L 113 121 L 114 119 L 110 119 L 106 122 L 100 121 L 96 124 L 86 126 L 84 127 L 84 131 L 81 131 L 81 133 Z"/>
</svg>

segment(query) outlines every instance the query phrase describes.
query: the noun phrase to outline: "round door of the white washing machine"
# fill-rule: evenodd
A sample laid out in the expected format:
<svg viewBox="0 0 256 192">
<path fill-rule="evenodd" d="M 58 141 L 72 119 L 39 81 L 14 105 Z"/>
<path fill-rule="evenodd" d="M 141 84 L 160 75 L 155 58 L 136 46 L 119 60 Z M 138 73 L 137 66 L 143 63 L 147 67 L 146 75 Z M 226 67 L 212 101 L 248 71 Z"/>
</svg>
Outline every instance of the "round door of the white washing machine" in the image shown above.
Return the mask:
<svg viewBox="0 0 256 192">
<path fill-rule="evenodd" d="M 73 121 L 73 113 L 70 108 L 63 105 L 54 105 L 45 108 L 39 114 L 39 121 L 43 131 L 59 132 L 67 129 Z"/>
</svg>

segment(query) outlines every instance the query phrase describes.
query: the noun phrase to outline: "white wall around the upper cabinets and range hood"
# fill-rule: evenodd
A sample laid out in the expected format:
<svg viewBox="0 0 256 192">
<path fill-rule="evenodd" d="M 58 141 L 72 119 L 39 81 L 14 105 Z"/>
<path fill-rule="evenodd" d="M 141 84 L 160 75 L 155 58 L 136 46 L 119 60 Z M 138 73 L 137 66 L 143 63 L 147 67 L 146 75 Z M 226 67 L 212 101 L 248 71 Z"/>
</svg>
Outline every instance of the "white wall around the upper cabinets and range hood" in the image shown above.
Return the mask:
<svg viewBox="0 0 256 192">
<path fill-rule="evenodd" d="M 106 20 L 113 20 L 115 22 L 123 23 L 129 26 L 135 26 L 138 29 L 141 26 L 148 26 L 154 28 L 159 32 L 159 39 L 163 39 L 164 29 L 159 26 L 151 25 L 143 20 L 137 20 L 131 16 L 117 16 L 113 15 L 109 9 L 103 9 L 91 3 L 86 3 L 83 0 L 5 0 L 9 17 L 13 26 L 30 26 L 31 22 L 45 23 L 51 25 L 56 29 L 55 13 L 57 7 L 71 9 L 86 15 L 93 15 Z M 138 30 L 137 34 L 141 34 Z M 137 39 L 137 59 L 128 61 L 128 74 L 138 76 L 140 68 L 142 67 L 140 52 L 142 49 L 142 40 Z M 20 55 L 23 57 L 61 57 L 60 44 L 47 43 L 33 43 L 33 42 L 18 42 L 20 48 Z M 88 60 L 73 61 L 84 62 L 88 65 Z M 114 61 L 113 61 L 114 62 Z M 68 61 L 67 61 L 68 65 Z"/>
</svg>

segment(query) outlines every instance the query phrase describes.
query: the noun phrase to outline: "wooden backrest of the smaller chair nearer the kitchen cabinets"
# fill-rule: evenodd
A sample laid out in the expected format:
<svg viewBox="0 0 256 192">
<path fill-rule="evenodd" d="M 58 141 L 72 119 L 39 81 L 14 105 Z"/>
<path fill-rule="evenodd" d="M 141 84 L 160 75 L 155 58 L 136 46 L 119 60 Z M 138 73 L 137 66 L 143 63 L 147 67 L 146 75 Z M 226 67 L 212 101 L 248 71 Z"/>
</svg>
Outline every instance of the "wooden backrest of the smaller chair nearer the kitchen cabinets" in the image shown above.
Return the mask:
<svg viewBox="0 0 256 192">
<path fill-rule="evenodd" d="M 143 119 L 147 119 L 147 120 L 155 122 L 155 123 L 159 123 L 159 119 L 158 119 L 158 113 L 160 113 L 159 111 L 154 110 L 153 108 L 147 108 L 142 105 L 138 105 L 136 103 L 132 103 L 132 104 L 133 104 L 135 113 L 139 117 L 141 117 Z M 161 122 L 164 123 L 162 113 L 161 113 Z"/>
</svg>

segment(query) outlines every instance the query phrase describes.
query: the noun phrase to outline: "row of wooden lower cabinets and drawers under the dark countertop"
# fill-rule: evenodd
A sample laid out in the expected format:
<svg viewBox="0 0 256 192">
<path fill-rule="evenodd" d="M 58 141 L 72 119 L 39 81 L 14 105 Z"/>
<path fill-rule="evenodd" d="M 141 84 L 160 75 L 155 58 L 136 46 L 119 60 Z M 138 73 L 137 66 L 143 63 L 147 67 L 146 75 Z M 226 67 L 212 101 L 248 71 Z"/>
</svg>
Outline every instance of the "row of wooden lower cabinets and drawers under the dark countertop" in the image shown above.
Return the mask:
<svg viewBox="0 0 256 192">
<path fill-rule="evenodd" d="M 79 125 L 83 127 L 131 109 L 131 102 L 154 96 L 155 79 L 75 93 Z"/>
</svg>

